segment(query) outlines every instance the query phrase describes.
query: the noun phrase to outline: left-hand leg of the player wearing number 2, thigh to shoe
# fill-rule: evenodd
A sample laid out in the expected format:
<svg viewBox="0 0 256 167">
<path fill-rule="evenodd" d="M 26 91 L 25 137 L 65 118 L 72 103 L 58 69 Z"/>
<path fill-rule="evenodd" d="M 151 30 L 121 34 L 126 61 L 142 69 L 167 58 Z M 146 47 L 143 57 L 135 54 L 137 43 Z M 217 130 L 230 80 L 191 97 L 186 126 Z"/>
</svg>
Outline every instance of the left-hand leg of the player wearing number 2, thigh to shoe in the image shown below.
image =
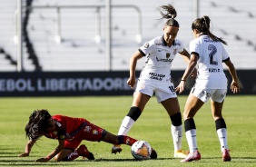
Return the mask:
<svg viewBox="0 0 256 167">
<path fill-rule="evenodd" d="M 185 107 L 184 107 L 184 126 L 187 142 L 189 144 L 190 153 L 182 162 L 192 162 L 201 159 L 201 154 L 198 152 L 196 141 L 196 126 L 193 120 L 194 115 L 199 111 L 204 102 L 202 99 L 196 97 L 193 93 L 190 93 Z"/>
</svg>

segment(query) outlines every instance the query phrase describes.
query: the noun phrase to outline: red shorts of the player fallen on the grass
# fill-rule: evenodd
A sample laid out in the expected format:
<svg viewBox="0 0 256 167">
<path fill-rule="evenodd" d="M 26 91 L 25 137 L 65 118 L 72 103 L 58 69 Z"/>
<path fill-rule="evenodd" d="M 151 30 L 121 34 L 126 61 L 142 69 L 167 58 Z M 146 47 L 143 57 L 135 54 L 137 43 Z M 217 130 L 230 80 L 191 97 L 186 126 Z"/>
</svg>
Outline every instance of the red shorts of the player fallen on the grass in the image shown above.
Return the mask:
<svg viewBox="0 0 256 167">
<path fill-rule="evenodd" d="M 103 128 L 87 121 L 74 136 L 65 139 L 64 148 L 76 149 L 83 140 L 101 142 L 106 133 L 107 132 Z"/>
</svg>

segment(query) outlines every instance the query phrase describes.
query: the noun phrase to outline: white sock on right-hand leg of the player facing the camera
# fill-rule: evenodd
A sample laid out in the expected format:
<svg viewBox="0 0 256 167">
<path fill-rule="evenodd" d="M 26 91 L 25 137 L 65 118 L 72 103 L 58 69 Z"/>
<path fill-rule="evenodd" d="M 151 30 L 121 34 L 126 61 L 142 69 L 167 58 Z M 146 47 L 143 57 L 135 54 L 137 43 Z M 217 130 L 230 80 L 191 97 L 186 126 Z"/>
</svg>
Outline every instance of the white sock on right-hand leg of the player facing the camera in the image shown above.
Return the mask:
<svg viewBox="0 0 256 167">
<path fill-rule="evenodd" d="M 174 145 L 174 151 L 182 149 L 182 125 L 171 125 L 172 141 Z"/>
</svg>

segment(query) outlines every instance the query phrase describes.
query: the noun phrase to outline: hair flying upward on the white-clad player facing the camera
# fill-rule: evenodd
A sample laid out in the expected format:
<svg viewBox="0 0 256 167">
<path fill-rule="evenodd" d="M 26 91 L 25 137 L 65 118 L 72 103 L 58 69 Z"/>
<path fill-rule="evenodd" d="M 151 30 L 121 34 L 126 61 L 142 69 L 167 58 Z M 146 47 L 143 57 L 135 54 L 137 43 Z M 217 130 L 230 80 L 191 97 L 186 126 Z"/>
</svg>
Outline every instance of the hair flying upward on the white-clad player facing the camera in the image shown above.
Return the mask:
<svg viewBox="0 0 256 167">
<path fill-rule="evenodd" d="M 179 23 L 174 19 L 177 16 L 177 12 L 172 5 L 162 5 L 158 9 L 162 15 L 162 18 L 160 19 L 168 19 L 164 24 L 165 26 L 176 26 L 177 28 L 180 27 Z"/>
</svg>

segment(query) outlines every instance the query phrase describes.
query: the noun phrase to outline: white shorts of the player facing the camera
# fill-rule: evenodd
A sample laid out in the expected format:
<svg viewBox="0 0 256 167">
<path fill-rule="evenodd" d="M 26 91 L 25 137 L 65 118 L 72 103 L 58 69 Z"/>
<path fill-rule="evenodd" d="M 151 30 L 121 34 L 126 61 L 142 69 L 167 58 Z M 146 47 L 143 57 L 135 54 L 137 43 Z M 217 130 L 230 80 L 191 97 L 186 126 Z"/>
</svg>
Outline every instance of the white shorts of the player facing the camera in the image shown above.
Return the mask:
<svg viewBox="0 0 256 167">
<path fill-rule="evenodd" d="M 173 83 L 164 82 L 164 83 L 155 83 L 149 81 L 140 81 L 136 85 L 135 92 L 140 92 L 143 94 L 147 94 L 149 96 L 153 96 L 153 93 L 156 96 L 157 102 L 161 103 L 169 98 L 176 98 L 177 94 L 175 93 L 175 88 Z"/>
</svg>

